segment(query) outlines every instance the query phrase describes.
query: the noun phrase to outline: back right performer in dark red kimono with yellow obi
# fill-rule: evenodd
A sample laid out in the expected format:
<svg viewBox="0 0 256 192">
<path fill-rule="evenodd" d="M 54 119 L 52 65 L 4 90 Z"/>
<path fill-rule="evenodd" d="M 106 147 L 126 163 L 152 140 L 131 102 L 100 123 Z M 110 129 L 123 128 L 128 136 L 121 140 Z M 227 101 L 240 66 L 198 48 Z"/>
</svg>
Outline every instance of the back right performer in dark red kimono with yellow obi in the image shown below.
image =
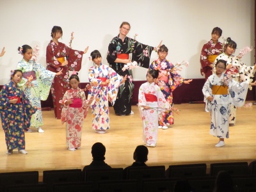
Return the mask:
<svg viewBox="0 0 256 192">
<path fill-rule="evenodd" d="M 200 63 L 201 74 L 205 76 L 205 81 L 212 75 L 213 63 L 216 57 L 222 53 L 222 44 L 218 41 L 221 35 L 222 30 L 220 28 L 213 28 L 211 40 L 207 44 L 204 44 L 202 48 Z"/>
</svg>

